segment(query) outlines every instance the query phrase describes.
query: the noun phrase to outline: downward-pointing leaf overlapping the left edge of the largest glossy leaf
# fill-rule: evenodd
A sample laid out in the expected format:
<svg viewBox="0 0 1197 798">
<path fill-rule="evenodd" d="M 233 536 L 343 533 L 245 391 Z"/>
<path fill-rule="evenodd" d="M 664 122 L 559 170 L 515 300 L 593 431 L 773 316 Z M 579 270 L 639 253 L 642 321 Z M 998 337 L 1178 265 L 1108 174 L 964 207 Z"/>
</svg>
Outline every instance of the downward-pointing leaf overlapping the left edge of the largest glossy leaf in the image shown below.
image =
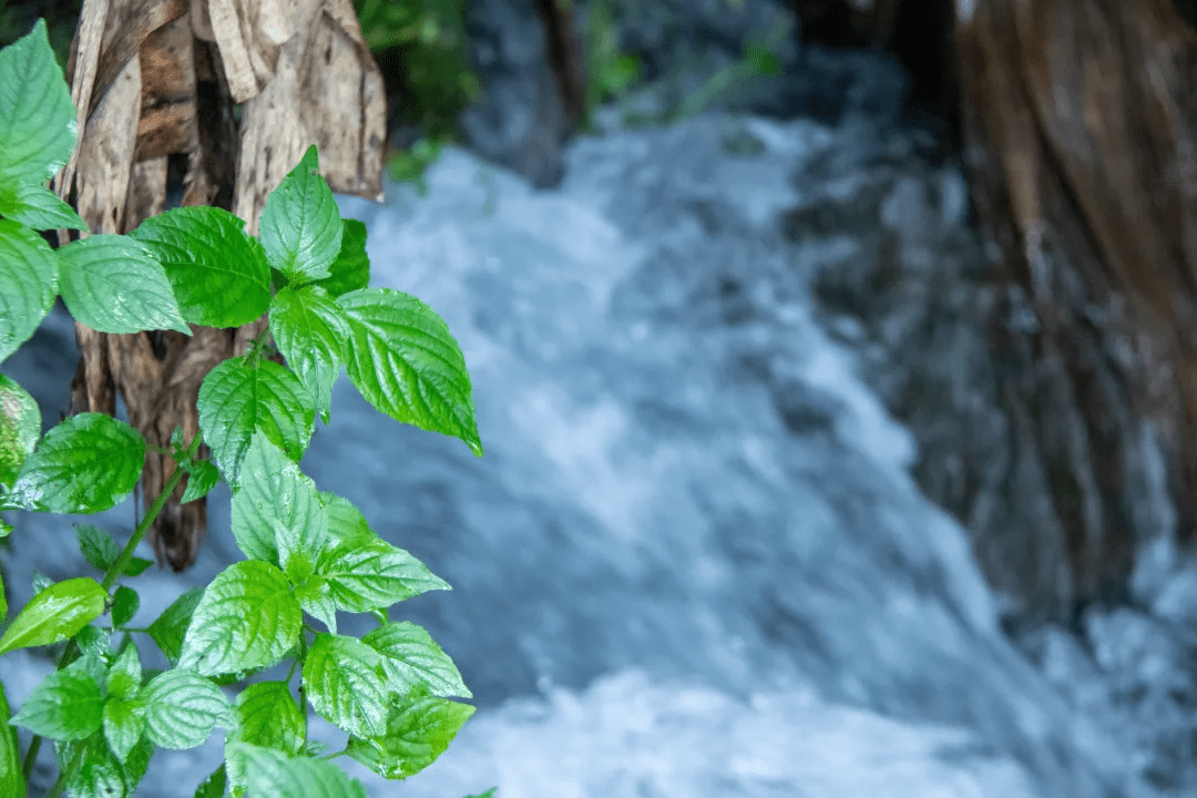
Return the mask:
<svg viewBox="0 0 1197 798">
<path fill-rule="evenodd" d="M 271 300 L 271 334 L 328 424 L 333 383 L 345 363 L 344 341 L 350 335 L 345 311 L 317 286 L 282 288 Z"/>
</svg>

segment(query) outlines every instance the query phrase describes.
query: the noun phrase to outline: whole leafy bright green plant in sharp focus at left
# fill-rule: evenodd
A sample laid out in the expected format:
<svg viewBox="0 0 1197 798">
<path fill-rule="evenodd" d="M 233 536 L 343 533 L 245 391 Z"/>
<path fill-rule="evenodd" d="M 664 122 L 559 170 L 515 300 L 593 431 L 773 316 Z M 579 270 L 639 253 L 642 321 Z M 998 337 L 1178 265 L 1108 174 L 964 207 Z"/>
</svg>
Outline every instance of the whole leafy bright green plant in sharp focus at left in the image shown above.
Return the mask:
<svg viewBox="0 0 1197 798">
<path fill-rule="evenodd" d="M 328 761 L 340 755 L 390 779 L 423 769 L 474 709 L 451 700 L 470 698 L 452 660 L 388 610 L 449 585 L 379 538 L 346 499 L 318 491 L 297 461 L 315 416 L 328 421 L 342 365 L 387 415 L 481 455 L 460 347 L 418 299 L 367 287 L 365 226 L 340 219 L 314 147 L 271 194 L 256 238 L 223 209 L 193 207 L 128 236 L 51 249 L 35 230 L 86 230 L 45 188 L 74 147 L 74 118 L 38 22 L 0 50 L 0 360 L 59 294 L 78 321 L 105 333 L 189 334 L 189 324 L 236 327 L 263 313 L 269 330 L 203 380 L 200 433 L 175 432 L 177 468 L 124 546 L 78 528 L 84 559 L 103 575 L 44 586 L 0 635 L 0 654 L 59 647 L 57 670 L 11 721 L 0 690 L 0 796 L 25 793 L 42 738 L 60 766 L 50 794 L 113 798 L 133 794 L 156 748 L 199 745 L 217 726 L 226 731 L 225 761 L 198 798 L 364 796 Z M 272 351 L 287 366 L 268 359 Z M 0 378 L 0 510 L 95 513 L 136 483 L 147 446 L 133 427 L 90 413 L 40 433 L 36 403 Z M 200 457 L 201 435 L 214 464 Z M 122 583 L 150 565 L 134 548 L 184 475 L 184 501 L 220 479 L 231 486 L 232 532 L 247 559 L 134 628 L 138 593 Z M 372 614 L 378 627 L 360 639 L 339 634 L 339 611 Z M 168 670 L 142 669 L 147 640 Z M 268 681 L 225 695 L 271 668 Z M 308 739 L 309 705 L 347 732 L 344 750 L 326 755 Z M 11 725 L 34 733 L 23 767 Z"/>
</svg>

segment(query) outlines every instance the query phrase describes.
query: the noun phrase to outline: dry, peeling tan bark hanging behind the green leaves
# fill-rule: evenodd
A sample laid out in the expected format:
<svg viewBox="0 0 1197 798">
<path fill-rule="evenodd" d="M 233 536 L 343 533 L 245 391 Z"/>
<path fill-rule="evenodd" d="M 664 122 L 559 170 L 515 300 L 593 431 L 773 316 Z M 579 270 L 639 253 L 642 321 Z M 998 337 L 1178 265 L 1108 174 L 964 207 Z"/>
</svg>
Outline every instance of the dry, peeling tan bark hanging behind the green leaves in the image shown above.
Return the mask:
<svg viewBox="0 0 1197 798">
<path fill-rule="evenodd" d="M 85 0 L 68 72 L 81 135 L 55 189 L 92 232 L 127 232 L 176 203 L 224 207 L 256 232 L 267 194 L 312 144 L 333 190 L 382 199 L 385 92 L 351 0 Z M 188 337 L 77 324 L 72 412 L 114 414 L 120 397 L 150 444 L 178 426 L 190 438 L 203 377 L 263 325 Z M 146 456 L 147 506 L 174 468 Z M 177 504 L 184 488 L 151 530 L 175 569 L 205 531 L 203 500 Z"/>
</svg>

